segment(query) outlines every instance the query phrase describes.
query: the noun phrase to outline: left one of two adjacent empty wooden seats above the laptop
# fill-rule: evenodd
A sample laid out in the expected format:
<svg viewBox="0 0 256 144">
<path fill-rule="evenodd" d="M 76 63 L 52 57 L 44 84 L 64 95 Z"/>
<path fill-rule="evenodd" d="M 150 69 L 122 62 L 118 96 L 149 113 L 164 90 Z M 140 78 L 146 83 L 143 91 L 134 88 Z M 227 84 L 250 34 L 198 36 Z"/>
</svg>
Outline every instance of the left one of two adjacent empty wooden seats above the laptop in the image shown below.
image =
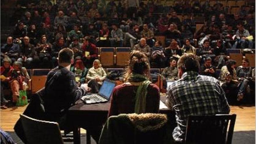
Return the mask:
<svg viewBox="0 0 256 144">
<path fill-rule="evenodd" d="M 102 66 L 114 65 L 114 47 L 101 47 L 100 48 L 100 61 Z"/>
</svg>

